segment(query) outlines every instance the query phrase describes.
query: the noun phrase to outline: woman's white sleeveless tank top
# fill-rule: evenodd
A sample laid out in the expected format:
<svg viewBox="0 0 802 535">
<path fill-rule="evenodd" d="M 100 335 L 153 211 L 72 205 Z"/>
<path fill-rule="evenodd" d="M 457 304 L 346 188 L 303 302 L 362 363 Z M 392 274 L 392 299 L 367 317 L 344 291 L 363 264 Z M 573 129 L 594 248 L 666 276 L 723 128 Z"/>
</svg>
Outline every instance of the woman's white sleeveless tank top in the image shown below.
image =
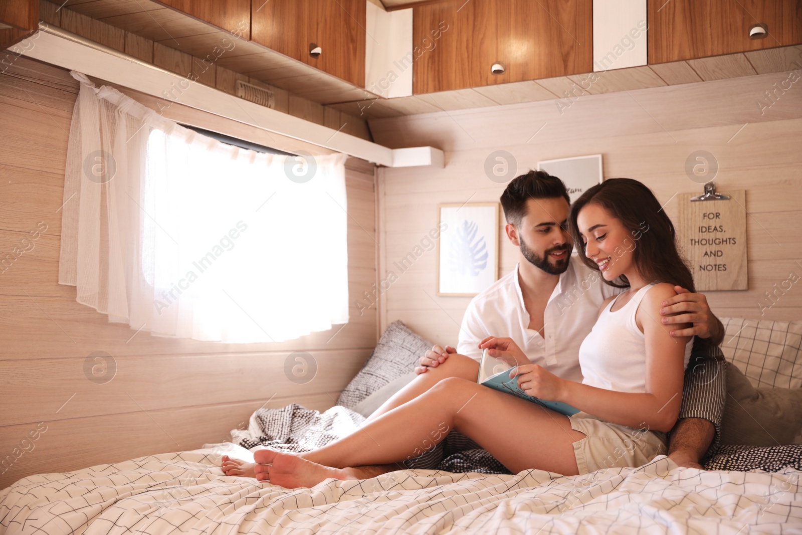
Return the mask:
<svg viewBox="0 0 802 535">
<path fill-rule="evenodd" d="M 638 329 L 635 313 L 652 286 L 643 286 L 619 310 L 610 311 L 618 298 L 602 310 L 579 348 L 583 384 L 619 392 L 646 391 L 646 337 Z M 666 343 L 673 341 L 666 334 Z M 686 367 L 693 345 L 691 338 L 685 346 Z"/>
</svg>

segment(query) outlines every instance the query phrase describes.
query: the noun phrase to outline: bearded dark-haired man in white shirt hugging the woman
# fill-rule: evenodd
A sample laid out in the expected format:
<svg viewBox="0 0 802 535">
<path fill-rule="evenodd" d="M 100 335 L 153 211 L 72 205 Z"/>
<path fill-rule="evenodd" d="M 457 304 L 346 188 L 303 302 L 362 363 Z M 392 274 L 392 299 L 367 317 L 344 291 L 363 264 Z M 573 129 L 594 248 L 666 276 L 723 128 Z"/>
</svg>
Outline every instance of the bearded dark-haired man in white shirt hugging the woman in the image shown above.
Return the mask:
<svg viewBox="0 0 802 535">
<path fill-rule="evenodd" d="M 582 380 L 578 359 L 581 342 L 593 328 L 602 301 L 622 290 L 606 285 L 599 272 L 582 262 L 571 261 L 573 246 L 565 229 L 569 196 L 561 180 L 542 171 L 518 176 L 504 190 L 501 205 L 507 237 L 520 250 L 516 269 L 472 299 L 457 349 L 435 346 L 420 359 L 421 367 L 415 371 L 436 371 L 435 377 L 428 381 L 419 377 L 418 389 L 398 399 L 394 396 L 371 418 L 411 399 L 412 394 L 418 395 L 417 390 L 425 391 L 439 379 L 456 375 L 476 380 L 480 344 L 490 336 L 512 338 L 530 362 L 563 379 Z M 644 221 L 633 233 L 630 250 L 638 246 L 639 233 L 648 232 L 648 223 Z M 719 436 L 726 395 L 723 356 L 716 357 L 720 355 L 717 346 L 723 339 L 723 326 L 702 294 L 679 287 L 675 290 L 678 295 L 664 302 L 662 317 L 654 321 L 692 323 L 691 328 L 671 331 L 671 335 L 694 334 L 715 344 L 696 344 L 685 375 L 683 408 L 670 434 L 669 457 L 680 466 L 701 468 L 699 460 Z M 407 465 L 424 468 L 423 464 Z"/>
</svg>

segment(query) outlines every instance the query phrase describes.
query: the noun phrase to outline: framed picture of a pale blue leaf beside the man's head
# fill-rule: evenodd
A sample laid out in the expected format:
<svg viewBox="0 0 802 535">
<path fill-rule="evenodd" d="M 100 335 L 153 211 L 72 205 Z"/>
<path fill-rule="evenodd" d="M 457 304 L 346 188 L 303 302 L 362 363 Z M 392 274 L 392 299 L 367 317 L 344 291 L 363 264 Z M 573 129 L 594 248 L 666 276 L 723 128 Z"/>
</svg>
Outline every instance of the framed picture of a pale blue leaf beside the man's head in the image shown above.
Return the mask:
<svg viewBox="0 0 802 535">
<path fill-rule="evenodd" d="M 499 204 L 438 205 L 437 294 L 473 297 L 499 272 Z"/>
</svg>

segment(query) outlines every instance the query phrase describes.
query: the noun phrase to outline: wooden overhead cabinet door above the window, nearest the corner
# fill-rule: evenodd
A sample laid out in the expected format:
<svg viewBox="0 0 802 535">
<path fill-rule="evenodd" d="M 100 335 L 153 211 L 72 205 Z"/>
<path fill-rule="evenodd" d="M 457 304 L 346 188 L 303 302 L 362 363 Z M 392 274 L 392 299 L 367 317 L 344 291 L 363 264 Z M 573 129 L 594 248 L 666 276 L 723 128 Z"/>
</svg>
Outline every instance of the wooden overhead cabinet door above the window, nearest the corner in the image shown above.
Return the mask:
<svg viewBox="0 0 802 535">
<path fill-rule="evenodd" d="M 251 10 L 252 41 L 365 87 L 365 0 L 253 0 Z"/>
</svg>

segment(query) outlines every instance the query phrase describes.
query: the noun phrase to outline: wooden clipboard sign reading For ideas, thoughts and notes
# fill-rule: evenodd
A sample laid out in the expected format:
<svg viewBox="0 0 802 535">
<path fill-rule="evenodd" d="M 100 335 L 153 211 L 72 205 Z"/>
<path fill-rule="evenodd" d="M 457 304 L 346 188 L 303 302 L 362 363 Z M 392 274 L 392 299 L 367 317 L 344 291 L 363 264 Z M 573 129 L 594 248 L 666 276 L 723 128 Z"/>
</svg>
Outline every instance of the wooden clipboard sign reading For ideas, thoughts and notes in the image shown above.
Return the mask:
<svg viewBox="0 0 802 535">
<path fill-rule="evenodd" d="M 694 275 L 697 291 L 748 290 L 746 191 L 705 193 L 678 198 L 678 242 Z"/>
</svg>

